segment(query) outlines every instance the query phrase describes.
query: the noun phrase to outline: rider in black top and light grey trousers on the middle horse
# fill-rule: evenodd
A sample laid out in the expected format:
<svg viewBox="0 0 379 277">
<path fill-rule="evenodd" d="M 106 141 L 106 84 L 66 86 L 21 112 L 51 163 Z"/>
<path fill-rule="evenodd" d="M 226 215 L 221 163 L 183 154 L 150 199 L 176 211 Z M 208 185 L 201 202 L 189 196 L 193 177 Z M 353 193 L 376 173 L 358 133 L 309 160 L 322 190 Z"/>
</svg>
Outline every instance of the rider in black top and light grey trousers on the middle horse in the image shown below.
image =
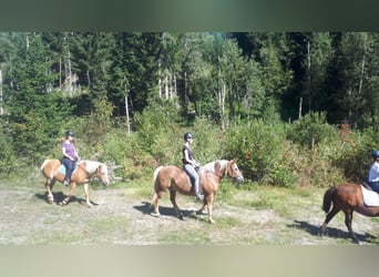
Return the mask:
<svg viewBox="0 0 379 277">
<path fill-rule="evenodd" d="M 192 150 L 190 145 L 193 143 L 193 134 L 187 132 L 184 134 L 184 144 L 183 144 L 183 168 L 188 174 L 194 188 L 195 188 L 195 196 L 197 201 L 204 199 L 204 195 L 199 193 L 198 187 L 198 174 L 196 172 L 196 167 L 199 166 L 199 164 L 194 160 Z"/>
</svg>

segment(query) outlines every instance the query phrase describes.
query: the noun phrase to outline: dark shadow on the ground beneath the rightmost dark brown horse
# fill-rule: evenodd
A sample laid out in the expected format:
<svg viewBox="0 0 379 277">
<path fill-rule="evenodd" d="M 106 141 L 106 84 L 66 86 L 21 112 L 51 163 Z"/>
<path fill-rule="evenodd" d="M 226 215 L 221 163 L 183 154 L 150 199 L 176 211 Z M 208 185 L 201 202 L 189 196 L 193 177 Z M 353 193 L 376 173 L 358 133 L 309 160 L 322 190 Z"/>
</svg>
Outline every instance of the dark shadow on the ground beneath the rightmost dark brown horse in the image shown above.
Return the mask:
<svg viewBox="0 0 379 277">
<path fill-rule="evenodd" d="M 287 227 L 288 228 L 295 228 L 295 229 L 303 229 L 313 236 L 318 236 L 318 237 L 321 236 L 320 226 L 313 225 L 313 224 L 309 224 L 307 222 L 294 220 L 294 224 L 289 224 L 289 225 L 287 225 Z M 334 228 L 334 227 L 327 227 L 325 236 L 334 237 L 334 238 L 351 239 L 351 237 L 347 230 L 342 230 L 342 229 L 338 229 L 338 228 Z M 356 236 L 360 242 L 376 240 L 376 237 L 368 234 L 368 233 L 365 233 L 365 234 L 356 233 Z"/>
</svg>

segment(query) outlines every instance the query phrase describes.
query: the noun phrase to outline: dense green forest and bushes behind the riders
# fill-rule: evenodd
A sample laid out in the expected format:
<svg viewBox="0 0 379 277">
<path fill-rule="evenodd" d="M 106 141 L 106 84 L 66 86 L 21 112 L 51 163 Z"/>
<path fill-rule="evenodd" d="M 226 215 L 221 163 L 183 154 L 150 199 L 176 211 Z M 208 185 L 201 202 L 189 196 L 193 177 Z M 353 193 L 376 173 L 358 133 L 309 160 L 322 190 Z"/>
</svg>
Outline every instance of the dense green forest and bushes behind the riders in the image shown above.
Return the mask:
<svg viewBox="0 0 379 277">
<path fill-rule="evenodd" d="M 237 158 L 253 183 L 362 181 L 377 148 L 376 32 L 2 32 L 0 175 L 80 155 L 122 179 Z"/>
</svg>

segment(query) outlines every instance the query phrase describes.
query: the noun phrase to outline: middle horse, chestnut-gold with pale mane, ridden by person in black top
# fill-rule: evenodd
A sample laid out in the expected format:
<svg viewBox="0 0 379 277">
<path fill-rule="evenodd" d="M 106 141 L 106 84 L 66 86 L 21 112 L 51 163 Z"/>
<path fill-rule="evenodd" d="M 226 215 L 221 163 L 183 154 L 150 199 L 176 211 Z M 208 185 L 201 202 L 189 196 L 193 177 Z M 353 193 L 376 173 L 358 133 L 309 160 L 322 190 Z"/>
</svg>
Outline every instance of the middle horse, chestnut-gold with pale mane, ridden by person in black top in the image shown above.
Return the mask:
<svg viewBox="0 0 379 277">
<path fill-rule="evenodd" d="M 229 176 L 238 183 L 244 179 L 235 160 L 232 161 L 215 161 L 201 167 L 199 172 L 199 186 L 204 193 L 203 207 L 196 212 L 202 214 L 205 206 L 207 206 L 208 220 L 214 223 L 212 218 L 212 206 L 214 197 L 217 193 L 219 182 L 224 176 Z M 195 195 L 188 175 L 175 165 L 160 166 L 154 172 L 154 196 L 152 206 L 154 206 L 153 216 L 160 216 L 158 201 L 162 198 L 164 192 L 170 191 L 170 199 L 174 205 L 174 209 L 178 218 L 183 219 L 183 213 L 176 205 L 176 193 L 183 195 Z"/>
</svg>

